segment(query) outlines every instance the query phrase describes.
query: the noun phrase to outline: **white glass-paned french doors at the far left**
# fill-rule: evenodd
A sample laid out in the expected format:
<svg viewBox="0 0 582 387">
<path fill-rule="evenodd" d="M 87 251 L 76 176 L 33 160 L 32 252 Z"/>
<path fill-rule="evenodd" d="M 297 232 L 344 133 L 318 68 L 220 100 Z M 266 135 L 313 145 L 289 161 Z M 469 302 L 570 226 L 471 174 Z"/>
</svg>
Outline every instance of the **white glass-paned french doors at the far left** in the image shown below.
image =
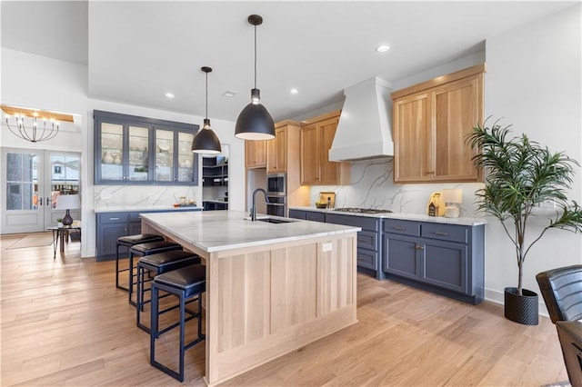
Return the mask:
<svg viewBox="0 0 582 387">
<path fill-rule="evenodd" d="M 2 148 L 2 231 L 34 233 L 56 225 L 59 194 L 79 193 L 81 154 Z M 80 220 L 81 210 L 71 210 Z"/>
</svg>

